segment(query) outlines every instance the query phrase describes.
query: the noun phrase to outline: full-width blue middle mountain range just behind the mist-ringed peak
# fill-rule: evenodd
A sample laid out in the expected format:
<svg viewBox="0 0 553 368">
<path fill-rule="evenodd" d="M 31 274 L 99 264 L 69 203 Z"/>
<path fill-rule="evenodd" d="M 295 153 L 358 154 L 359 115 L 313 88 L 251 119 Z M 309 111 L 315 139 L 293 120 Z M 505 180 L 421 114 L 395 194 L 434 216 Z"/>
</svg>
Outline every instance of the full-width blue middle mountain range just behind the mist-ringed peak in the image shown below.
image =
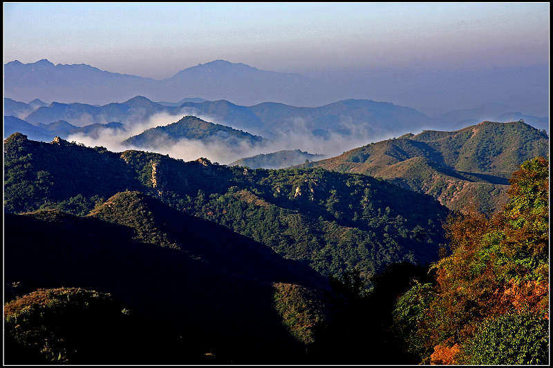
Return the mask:
<svg viewBox="0 0 553 368">
<path fill-rule="evenodd" d="M 185 98 L 178 103 L 154 102 L 142 96 L 133 97 L 122 103 L 103 106 L 58 102 L 46 105 L 38 99 L 32 101 L 31 104 L 25 104 L 4 98 L 4 106 L 5 116 L 13 115 L 34 125 L 64 120 L 73 126 L 109 122 L 121 122 L 131 126 L 147 122 L 156 114 L 165 113 L 180 115 L 180 117 L 195 115 L 205 121 L 216 122 L 277 140 L 287 140 L 292 136 L 303 135 L 303 137 L 312 139 L 329 139 L 337 136 L 353 137 L 370 142 L 375 137 L 402 135 L 407 131 L 424 128 L 454 130 L 462 126 L 477 124 L 482 121 L 477 119 L 478 116 L 489 115 L 496 117 L 493 120 L 498 122 L 525 119 L 527 124 L 536 128 L 547 130 L 549 126 L 547 117 L 509 113 L 508 110 L 502 110 L 503 106 L 498 105 L 481 106 L 474 110 L 456 110 L 441 117 L 432 118 L 413 108 L 363 99 L 337 101 L 315 108 L 289 106 L 274 102 L 239 106 L 225 100 L 205 101 L 199 98 Z M 27 134 L 26 131 L 21 131 L 21 133 Z"/>
</svg>

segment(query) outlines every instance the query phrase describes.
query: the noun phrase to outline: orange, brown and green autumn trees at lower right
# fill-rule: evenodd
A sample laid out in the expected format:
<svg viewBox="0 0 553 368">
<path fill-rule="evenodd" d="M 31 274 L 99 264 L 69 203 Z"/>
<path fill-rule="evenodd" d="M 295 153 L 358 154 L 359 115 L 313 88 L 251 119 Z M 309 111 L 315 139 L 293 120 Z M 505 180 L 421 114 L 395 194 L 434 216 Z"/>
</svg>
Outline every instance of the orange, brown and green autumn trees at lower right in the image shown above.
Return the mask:
<svg viewBox="0 0 553 368">
<path fill-rule="evenodd" d="M 426 291 L 426 306 L 421 304 L 421 298 L 415 296 L 422 286 L 416 284 L 395 309 L 396 325 L 409 326 L 400 329 L 411 343 L 408 349 L 418 352 L 421 360 L 471 364 L 546 361 L 540 333 L 547 336 L 548 331 L 539 321 L 549 314 L 548 171 L 549 163 L 543 157 L 524 162 L 512 177 L 510 200 L 503 211 L 489 219 L 465 213 L 450 217 L 444 225 L 451 255 L 431 267 L 436 271 L 433 294 Z M 520 323 L 521 313 L 536 321 L 531 329 Z M 516 340 L 523 338 L 525 331 L 532 331 L 533 342 L 480 343 L 485 333 Z M 507 346 L 518 348 L 490 353 Z M 444 351 L 455 354 L 447 361 L 436 360 Z M 496 358 L 475 356 L 482 351 Z"/>
</svg>

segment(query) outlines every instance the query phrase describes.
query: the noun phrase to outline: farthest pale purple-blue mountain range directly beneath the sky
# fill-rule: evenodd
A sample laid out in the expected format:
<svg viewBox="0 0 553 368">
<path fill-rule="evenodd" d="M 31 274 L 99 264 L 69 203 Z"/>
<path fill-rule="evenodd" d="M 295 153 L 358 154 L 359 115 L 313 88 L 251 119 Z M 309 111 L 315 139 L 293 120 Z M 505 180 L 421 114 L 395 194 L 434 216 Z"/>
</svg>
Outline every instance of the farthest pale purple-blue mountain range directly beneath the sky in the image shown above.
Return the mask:
<svg viewBox="0 0 553 368">
<path fill-rule="evenodd" d="M 142 95 L 154 101 L 171 103 L 183 97 L 201 97 L 227 99 L 244 106 L 265 101 L 293 106 L 322 106 L 355 98 L 393 101 L 418 110 L 422 109 L 420 106 L 427 106 L 422 111 L 433 117 L 453 108 L 470 108 L 500 101 L 511 106 L 503 113 L 521 111 L 531 116 L 546 115 L 548 104 L 541 97 L 541 92 L 547 91 L 547 84 L 543 83 L 543 72 L 547 73 L 547 66 L 525 70 L 504 69 L 443 72 L 441 77 L 440 72 L 427 75 L 415 71 L 392 73 L 380 70 L 315 78 L 216 60 L 156 80 L 108 72 L 86 64 L 54 65 L 42 59 L 29 64 L 17 60 L 5 64 L 4 85 L 5 95 L 18 101 L 39 98 L 43 101 L 103 105 Z M 475 75 L 474 79 L 467 79 L 467 72 Z M 505 75 L 510 76 L 509 81 L 505 80 Z M 402 93 L 398 85 L 402 86 Z M 463 92 L 466 90 L 471 91 L 468 97 Z M 477 118 L 482 121 L 488 117 Z"/>
</svg>

